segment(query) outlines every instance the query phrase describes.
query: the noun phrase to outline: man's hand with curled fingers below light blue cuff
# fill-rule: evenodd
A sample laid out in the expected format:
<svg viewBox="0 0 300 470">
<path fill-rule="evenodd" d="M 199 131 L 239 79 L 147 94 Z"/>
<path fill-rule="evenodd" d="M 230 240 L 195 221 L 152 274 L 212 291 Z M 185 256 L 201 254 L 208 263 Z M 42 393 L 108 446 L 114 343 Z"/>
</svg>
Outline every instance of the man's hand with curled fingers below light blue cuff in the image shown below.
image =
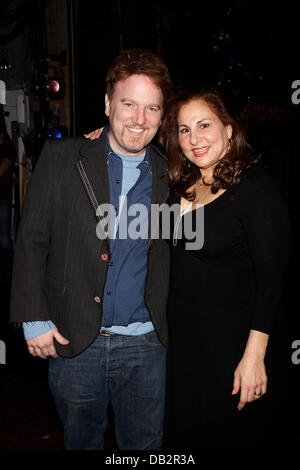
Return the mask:
<svg viewBox="0 0 300 470">
<path fill-rule="evenodd" d="M 64 338 L 57 330 L 57 328 L 52 328 L 42 335 L 36 336 L 35 338 L 28 339 L 26 341 L 28 351 L 32 356 L 40 357 L 42 359 L 47 359 L 48 356 L 54 357 L 56 359 L 58 354 L 53 344 L 53 338 L 62 345 L 69 344 L 69 340 Z"/>
</svg>

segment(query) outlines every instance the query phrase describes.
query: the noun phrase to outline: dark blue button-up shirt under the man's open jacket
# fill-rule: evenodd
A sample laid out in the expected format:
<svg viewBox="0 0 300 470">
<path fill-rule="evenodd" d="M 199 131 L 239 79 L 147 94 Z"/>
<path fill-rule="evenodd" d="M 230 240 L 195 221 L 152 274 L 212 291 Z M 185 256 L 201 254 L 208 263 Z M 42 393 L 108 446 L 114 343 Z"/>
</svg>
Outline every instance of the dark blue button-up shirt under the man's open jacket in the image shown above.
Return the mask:
<svg viewBox="0 0 300 470">
<path fill-rule="evenodd" d="M 147 274 L 148 223 L 152 196 L 152 164 L 147 149 L 143 161 L 136 167 L 140 173 L 139 176 L 135 175 L 134 168 L 129 171 L 129 175 L 132 175 L 130 184 L 128 178 L 123 178 L 122 158 L 124 157 L 121 158 L 113 152 L 107 136 L 106 145 L 110 204 L 115 207 L 118 226 L 115 238 L 110 239 L 111 259 L 104 287 L 102 326 L 127 326 L 135 322 L 150 321 L 144 297 Z M 135 159 L 137 157 L 129 158 Z M 126 165 L 126 157 L 124 164 Z M 120 196 L 126 196 L 121 211 Z M 134 215 L 128 215 L 133 204 L 143 204 L 144 210 Z M 142 232 L 143 238 L 133 239 L 130 236 L 131 228 Z M 126 233 L 126 238 L 122 238 Z"/>
</svg>

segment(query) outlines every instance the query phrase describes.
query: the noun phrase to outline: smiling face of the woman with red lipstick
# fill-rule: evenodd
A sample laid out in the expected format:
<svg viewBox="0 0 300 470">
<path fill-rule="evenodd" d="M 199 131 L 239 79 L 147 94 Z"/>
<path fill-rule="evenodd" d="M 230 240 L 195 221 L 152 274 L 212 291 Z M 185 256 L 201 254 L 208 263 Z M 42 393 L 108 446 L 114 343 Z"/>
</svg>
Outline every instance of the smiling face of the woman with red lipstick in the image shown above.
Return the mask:
<svg viewBox="0 0 300 470">
<path fill-rule="evenodd" d="M 232 127 L 224 126 L 208 104 L 192 100 L 178 113 L 179 145 L 188 160 L 200 169 L 213 168 L 225 155 Z"/>
</svg>

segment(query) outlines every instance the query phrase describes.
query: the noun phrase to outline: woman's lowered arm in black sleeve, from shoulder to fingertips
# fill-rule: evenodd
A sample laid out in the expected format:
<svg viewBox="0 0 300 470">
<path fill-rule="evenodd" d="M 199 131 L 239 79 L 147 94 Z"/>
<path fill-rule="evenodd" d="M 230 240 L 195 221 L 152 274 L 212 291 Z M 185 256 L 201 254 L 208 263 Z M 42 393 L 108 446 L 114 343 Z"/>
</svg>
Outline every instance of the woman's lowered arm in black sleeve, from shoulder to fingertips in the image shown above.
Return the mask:
<svg viewBox="0 0 300 470">
<path fill-rule="evenodd" d="M 288 267 L 291 231 L 279 190 L 261 167 L 252 168 L 239 190 L 240 220 L 256 282 L 256 301 L 244 354 L 234 372 L 232 394 L 240 391 L 238 409 L 267 391 L 264 358 L 281 302 Z M 257 394 L 257 395 L 256 395 Z"/>
</svg>

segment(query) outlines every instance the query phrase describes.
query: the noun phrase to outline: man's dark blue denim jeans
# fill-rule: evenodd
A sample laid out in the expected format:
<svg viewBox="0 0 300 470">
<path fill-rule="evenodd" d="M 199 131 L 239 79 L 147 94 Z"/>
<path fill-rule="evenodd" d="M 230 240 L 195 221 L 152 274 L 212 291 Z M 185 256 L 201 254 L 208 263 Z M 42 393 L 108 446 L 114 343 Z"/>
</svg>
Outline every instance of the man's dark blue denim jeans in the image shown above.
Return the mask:
<svg viewBox="0 0 300 470">
<path fill-rule="evenodd" d="M 49 386 L 64 426 L 66 450 L 102 450 L 107 406 L 122 450 L 160 449 L 166 348 L 153 331 L 99 335 L 73 358 L 49 360 Z"/>
</svg>

